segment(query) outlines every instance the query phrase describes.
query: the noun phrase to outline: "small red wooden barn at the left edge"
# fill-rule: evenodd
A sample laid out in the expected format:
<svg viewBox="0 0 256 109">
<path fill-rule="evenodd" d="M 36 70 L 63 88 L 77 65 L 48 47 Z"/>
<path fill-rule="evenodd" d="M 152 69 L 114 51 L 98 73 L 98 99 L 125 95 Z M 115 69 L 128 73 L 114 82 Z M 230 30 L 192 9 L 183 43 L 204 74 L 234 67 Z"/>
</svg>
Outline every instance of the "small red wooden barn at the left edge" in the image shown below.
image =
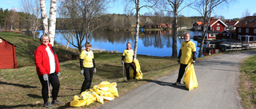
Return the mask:
<svg viewBox="0 0 256 109">
<path fill-rule="evenodd" d="M 16 46 L 0 37 L 0 69 L 17 68 Z"/>
</svg>

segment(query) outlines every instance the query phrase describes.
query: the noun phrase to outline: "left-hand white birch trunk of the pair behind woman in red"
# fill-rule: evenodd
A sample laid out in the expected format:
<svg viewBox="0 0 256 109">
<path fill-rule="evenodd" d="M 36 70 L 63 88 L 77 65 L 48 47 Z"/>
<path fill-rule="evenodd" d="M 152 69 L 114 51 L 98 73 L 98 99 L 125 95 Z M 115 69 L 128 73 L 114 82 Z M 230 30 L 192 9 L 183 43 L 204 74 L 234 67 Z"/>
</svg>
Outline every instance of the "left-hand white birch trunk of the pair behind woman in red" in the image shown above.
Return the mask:
<svg viewBox="0 0 256 109">
<path fill-rule="evenodd" d="M 48 19 L 46 14 L 46 0 L 40 0 L 42 30 L 43 34 L 48 34 Z"/>
</svg>

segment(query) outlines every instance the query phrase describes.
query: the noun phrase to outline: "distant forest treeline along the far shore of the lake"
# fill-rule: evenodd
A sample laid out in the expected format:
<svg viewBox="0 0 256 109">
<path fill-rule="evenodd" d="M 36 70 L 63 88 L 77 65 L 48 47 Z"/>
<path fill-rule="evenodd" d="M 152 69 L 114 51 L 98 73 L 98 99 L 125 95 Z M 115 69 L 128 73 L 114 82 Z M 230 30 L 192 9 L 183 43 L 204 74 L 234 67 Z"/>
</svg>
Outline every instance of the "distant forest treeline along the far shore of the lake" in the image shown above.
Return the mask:
<svg viewBox="0 0 256 109">
<path fill-rule="evenodd" d="M 2 10 L 0 8 L 0 28 L 3 30 L 29 30 L 30 25 L 28 22 L 26 13 L 24 12 L 16 12 L 14 10 Z M 126 14 L 104 14 L 101 18 L 106 20 L 106 25 L 102 26 L 100 30 L 108 30 L 108 31 L 128 31 L 133 29 L 133 26 L 136 24 L 136 17 L 134 15 L 126 15 Z M 41 19 L 40 19 L 41 20 Z M 49 20 L 48 20 L 49 21 Z M 65 29 L 65 21 L 69 21 L 67 19 L 63 20 L 62 18 L 56 19 L 56 29 Z M 185 17 L 180 15 L 178 17 L 178 27 L 191 27 L 194 21 L 202 21 L 202 17 Z M 173 22 L 172 17 L 168 16 L 158 16 L 157 14 L 154 16 L 140 16 L 140 27 L 144 25 L 158 25 L 161 23 L 171 25 Z M 39 30 L 42 27 L 39 27 Z"/>
</svg>

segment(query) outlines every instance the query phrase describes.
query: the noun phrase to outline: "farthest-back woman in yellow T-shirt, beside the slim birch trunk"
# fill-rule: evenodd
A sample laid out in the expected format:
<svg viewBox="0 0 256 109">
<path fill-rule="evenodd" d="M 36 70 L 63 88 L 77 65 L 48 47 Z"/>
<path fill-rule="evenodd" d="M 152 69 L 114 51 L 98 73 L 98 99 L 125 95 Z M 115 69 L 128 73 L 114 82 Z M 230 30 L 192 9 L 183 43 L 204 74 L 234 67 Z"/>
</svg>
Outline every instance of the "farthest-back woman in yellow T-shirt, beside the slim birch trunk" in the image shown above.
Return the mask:
<svg viewBox="0 0 256 109">
<path fill-rule="evenodd" d="M 126 43 L 127 49 L 125 49 L 122 53 L 122 64 L 126 67 L 126 79 L 130 80 L 130 71 L 129 67 L 133 68 L 134 72 L 134 80 L 136 80 L 136 66 L 134 64 L 134 50 L 130 48 L 130 42 Z"/>
</svg>

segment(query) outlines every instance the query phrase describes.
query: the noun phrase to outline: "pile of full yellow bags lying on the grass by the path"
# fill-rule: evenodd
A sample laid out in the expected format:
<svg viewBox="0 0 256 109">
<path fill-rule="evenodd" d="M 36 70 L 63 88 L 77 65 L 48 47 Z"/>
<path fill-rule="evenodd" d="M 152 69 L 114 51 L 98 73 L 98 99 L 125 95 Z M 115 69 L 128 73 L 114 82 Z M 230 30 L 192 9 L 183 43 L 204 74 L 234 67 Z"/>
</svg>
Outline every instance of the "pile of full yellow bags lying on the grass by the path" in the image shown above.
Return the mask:
<svg viewBox="0 0 256 109">
<path fill-rule="evenodd" d="M 113 100 L 114 96 L 118 95 L 117 83 L 110 83 L 107 81 L 103 81 L 102 83 L 95 85 L 94 90 L 88 89 L 83 91 L 78 97 L 78 95 L 74 95 L 74 100 L 70 102 L 71 107 L 84 107 L 89 105 L 90 103 L 94 103 L 98 101 L 99 103 L 104 103 L 104 99 Z"/>
</svg>

